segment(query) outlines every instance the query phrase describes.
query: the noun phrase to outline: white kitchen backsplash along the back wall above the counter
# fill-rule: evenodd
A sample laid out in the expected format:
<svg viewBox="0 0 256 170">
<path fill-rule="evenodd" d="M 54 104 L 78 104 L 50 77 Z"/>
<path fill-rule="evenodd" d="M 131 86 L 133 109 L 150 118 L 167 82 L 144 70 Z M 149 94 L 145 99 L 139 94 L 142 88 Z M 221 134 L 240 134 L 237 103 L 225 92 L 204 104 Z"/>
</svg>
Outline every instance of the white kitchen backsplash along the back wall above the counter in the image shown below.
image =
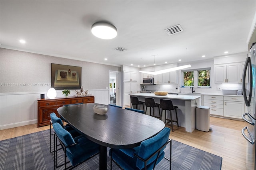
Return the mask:
<svg viewBox="0 0 256 170">
<path fill-rule="evenodd" d="M 168 92 L 178 92 L 177 85 L 168 85 L 168 84 L 161 84 L 161 85 L 144 85 L 145 90 L 148 91 L 168 91 Z M 195 93 L 219 93 L 222 94 L 222 89 L 237 89 L 238 91 L 242 89 L 242 84 L 215 84 L 215 87 L 212 88 L 194 88 Z M 141 85 L 142 91 L 142 85 Z M 180 88 L 181 92 L 192 92 L 192 89 L 184 87 Z"/>
</svg>

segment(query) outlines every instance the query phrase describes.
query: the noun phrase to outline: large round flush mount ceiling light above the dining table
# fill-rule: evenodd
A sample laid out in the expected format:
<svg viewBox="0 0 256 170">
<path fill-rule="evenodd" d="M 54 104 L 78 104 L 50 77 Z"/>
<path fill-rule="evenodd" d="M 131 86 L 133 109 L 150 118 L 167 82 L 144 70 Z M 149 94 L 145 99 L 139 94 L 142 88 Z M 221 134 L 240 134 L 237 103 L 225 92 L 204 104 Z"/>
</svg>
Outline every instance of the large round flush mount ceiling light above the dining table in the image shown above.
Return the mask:
<svg viewBox="0 0 256 170">
<path fill-rule="evenodd" d="M 109 40 L 117 36 L 117 29 L 107 22 L 96 22 L 92 25 L 92 34 L 98 38 Z"/>
</svg>

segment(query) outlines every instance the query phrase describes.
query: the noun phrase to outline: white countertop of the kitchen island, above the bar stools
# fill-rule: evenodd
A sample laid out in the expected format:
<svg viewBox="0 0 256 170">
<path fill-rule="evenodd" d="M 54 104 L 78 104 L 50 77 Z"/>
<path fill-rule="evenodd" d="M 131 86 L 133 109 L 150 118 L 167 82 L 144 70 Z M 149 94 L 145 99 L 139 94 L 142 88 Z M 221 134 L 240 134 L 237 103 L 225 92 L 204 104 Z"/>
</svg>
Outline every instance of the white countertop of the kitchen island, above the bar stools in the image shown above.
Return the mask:
<svg viewBox="0 0 256 170">
<path fill-rule="evenodd" d="M 178 100 L 195 100 L 200 98 L 200 95 L 155 95 L 154 93 L 132 93 L 129 94 L 131 96 L 140 96 L 140 97 L 155 97 L 155 98 L 162 98 L 162 99 L 178 99 Z"/>
</svg>

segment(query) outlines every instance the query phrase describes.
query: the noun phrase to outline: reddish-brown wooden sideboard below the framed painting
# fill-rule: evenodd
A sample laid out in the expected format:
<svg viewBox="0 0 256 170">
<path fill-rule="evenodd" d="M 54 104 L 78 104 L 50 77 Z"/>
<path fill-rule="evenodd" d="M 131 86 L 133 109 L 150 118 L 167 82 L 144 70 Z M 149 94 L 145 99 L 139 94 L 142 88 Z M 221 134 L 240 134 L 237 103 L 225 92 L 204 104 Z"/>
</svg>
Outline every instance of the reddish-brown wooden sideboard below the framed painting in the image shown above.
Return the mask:
<svg viewBox="0 0 256 170">
<path fill-rule="evenodd" d="M 94 103 L 94 96 L 81 96 L 81 97 L 58 97 L 55 99 L 37 99 L 37 127 L 49 125 L 51 120 L 50 114 L 57 112 L 59 107 L 63 105 L 70 105 L 76 103 Z"/>
</svg>

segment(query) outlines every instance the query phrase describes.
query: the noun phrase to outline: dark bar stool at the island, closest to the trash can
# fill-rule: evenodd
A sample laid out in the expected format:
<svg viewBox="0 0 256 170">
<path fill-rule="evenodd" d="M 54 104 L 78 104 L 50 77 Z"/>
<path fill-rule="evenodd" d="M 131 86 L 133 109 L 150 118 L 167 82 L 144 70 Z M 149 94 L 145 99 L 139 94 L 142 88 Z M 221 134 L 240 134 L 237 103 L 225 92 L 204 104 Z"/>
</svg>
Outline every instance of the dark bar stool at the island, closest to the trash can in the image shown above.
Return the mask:
<svg viewBox="0 0 256 170">
<path fill-rule="evenodd" d="M 171 101 L 171 100 L 160 99 L 160 108 L 162 109 L 160 117 L 162 117 L 162 112 L 163 112 L 163 110 L 164 110 L 164 123 L 165 123 L 165 124 L 171 123 L 172 132 L 173 132 L 173 125 L 172 125 L 172 122 L 176 122 L 176 123 L 177 123 L 177 126 L 179 127 L 178 116 L 177 116 L 177 108 L 178 108 L 178 106 L 172 105 L 172 101 Z M 170 118 L 171 118 L 171 119 L 166 119 L 166 110 L 170 111 Z M 176 113 L 176 121 L 173 121 L 173 120 L 172 120 L 172 110 L 175 110 L 175 113 Z M 168 121 L 168 122 L 166 123 L 166 121 Z M 169 124 L 169 125 L 170 125 L 170 124 Z"/>
</svg>

